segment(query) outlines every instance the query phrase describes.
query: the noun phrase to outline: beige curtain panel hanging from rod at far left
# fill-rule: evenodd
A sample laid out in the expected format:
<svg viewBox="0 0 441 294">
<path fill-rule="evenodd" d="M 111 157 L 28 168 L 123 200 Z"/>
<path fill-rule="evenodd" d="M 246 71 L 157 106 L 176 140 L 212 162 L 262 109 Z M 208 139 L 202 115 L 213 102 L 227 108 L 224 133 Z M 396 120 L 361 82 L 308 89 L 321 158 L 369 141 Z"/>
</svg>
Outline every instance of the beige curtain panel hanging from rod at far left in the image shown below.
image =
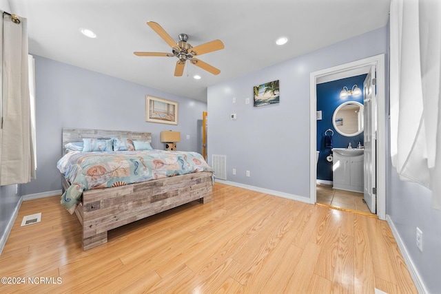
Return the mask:
<svg viewBox="0 0 441 294">
<path fill-rule="evenodd" d="M 31 140 L 26 19 L 1 21 L 0 185 L 29 182 L 35 176 Z"/>
</svg>

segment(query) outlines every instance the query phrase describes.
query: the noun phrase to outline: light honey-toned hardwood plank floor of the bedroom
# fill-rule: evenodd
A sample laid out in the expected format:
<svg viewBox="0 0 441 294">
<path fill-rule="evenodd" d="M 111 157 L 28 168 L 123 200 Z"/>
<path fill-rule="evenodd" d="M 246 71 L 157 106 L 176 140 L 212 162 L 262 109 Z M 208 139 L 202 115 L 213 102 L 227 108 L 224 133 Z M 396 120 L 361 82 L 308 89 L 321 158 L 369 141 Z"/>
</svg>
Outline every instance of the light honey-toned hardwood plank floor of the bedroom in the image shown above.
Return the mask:
<svg viewBox="0 0 441 294">
<path fill-rule="evenodd" d="M 0 292 L 417 293 L 387 222 L 218 183 L 212 193 L 90 251 L 59 196 L 25 201 L 0 255 L 0 277 L 25 284 Z"/>
</svg>

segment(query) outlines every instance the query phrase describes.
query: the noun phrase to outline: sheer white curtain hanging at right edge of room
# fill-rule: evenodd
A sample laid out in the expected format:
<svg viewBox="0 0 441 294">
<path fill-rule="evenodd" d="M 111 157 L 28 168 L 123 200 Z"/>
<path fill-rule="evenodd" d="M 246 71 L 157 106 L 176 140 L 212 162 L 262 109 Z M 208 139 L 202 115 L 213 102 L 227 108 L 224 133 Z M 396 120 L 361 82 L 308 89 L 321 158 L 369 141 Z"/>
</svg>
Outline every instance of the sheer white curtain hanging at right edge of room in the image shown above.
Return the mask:
<svg viewBox="0 0 441 294">
<path fill-rule="evenodd" d="M 391 1 L 391 156 L 441 210 L 441 2 Z M 438 155 L 438 156 L 437 156 Z"/>
</svg>

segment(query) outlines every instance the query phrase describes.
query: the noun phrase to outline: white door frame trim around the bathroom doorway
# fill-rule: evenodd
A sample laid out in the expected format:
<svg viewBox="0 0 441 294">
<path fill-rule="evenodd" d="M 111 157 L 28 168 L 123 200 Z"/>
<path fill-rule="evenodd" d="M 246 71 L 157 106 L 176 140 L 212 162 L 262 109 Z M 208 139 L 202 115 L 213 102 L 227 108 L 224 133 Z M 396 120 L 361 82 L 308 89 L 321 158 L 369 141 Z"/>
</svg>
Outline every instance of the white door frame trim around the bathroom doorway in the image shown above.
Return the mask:
<svg viewBox="0 0 441 294">
<path fill-rule="evenodd" d="M 309 78 L 309 109 L 310 109 L 310 130 L 309 130 L 309 195 L 311 204 L 315 204 L 317 200 L 316 178 L 316 149 L 317 149 L 317 83 L 325 81 L 335 81 L 340 78 L 356 76 L 367 73 L 367 69 L 374 65 L 376 67 L 376 91 L 378 95 L 378 131 L 377 131 L 377 216 L 380 220 L 386 220 L 386 80 L 384 68 L 384 54 L 371 56 L 366 59 L 360 59 L 350 63 L 329 67 L 325 70 L 311 72 Z M 366 70 L 366 72 L 365 72 Z"/>
</svg>

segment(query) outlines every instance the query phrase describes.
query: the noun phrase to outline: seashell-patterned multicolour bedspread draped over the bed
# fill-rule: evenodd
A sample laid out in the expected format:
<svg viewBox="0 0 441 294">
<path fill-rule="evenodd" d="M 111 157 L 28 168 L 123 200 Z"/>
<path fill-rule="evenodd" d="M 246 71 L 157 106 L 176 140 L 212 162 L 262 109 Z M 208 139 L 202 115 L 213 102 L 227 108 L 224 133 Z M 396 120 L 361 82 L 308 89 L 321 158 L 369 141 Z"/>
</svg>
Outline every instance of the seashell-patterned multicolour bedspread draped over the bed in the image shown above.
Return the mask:
<svg viewBox="0 0 441 294">
<path fill-rule="evenodd" d="M 72 214 L 85 190 L 117 187 L 199 171 L 213 172 L 201 154 L 188 151 L 72 151 L 57 162 L 70 182 L 61 204 Z"/>
</svg>

